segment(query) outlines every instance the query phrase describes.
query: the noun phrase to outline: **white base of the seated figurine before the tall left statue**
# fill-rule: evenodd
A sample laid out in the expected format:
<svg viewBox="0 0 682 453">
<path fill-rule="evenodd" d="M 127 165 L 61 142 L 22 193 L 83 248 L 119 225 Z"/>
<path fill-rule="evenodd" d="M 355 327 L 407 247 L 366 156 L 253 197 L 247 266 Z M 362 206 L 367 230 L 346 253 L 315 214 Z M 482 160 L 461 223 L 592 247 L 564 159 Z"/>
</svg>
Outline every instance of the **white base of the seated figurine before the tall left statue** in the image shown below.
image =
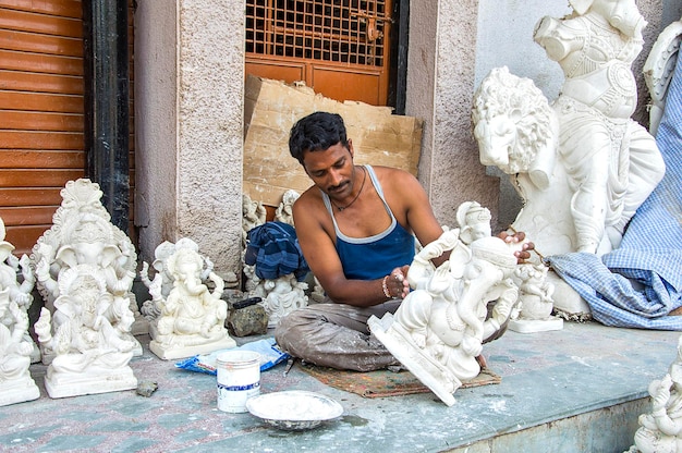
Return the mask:
<svg viewBox="0 0 682 453">
<path fill-rule="evenodd" d="M 137 388 L 129 366 L 117 369 L 88 369 L 82 374 L 48 369 L 45 390 L 51 399 L 119 392 Z"/>
</svg>

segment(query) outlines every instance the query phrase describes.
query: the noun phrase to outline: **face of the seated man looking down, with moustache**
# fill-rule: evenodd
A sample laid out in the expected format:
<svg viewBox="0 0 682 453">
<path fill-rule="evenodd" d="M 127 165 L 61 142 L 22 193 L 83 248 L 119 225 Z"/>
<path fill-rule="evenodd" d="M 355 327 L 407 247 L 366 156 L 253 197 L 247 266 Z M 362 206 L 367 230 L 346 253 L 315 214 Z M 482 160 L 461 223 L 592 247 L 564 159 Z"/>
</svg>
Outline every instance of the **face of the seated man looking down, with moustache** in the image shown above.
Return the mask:
<svg viewBox="0 0 682 453">
<path fill-rule="evenodd" d="M 303 168 L 316 186 L 330 198 L 342 199 L 353 189 L 353 145 L 340 143 L 324 151 L 305 151 Z"/>
</svg>

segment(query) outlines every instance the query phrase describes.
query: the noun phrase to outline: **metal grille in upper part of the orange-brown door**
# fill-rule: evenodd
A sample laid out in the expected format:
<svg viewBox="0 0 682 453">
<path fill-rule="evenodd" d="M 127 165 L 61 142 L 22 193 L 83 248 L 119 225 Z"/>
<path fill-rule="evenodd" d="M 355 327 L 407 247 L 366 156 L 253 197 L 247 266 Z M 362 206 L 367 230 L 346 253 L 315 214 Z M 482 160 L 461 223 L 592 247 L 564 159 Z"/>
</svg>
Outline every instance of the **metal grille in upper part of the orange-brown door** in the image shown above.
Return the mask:
<svg viewBox="0 0 682 453">
<path fill-rule="evenodd" d="M 386 0 L 247 0 L 246 52 L 382 66 Z"/>
</svg>

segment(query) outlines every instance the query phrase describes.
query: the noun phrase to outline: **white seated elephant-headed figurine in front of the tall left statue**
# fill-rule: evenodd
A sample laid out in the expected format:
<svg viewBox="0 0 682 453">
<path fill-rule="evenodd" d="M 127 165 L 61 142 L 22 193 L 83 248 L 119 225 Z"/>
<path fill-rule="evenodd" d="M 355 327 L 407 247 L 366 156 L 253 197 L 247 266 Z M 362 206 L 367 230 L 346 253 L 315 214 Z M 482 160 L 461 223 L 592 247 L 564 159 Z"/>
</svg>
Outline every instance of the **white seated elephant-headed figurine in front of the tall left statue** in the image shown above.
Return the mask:
<svg viewBox="0 0 682 453">
<path fill-rule="evenodd" d="M 137 379 L 127 365 L 138 345 L 130 335 L 135 318 L 127 299 L 107 289 L 96 265 L 63 269 L 54 313 L 46 307 L 34 326 L 53 353 L 45 388 L 50 397 L 130 390 Z"/>
</svg>

